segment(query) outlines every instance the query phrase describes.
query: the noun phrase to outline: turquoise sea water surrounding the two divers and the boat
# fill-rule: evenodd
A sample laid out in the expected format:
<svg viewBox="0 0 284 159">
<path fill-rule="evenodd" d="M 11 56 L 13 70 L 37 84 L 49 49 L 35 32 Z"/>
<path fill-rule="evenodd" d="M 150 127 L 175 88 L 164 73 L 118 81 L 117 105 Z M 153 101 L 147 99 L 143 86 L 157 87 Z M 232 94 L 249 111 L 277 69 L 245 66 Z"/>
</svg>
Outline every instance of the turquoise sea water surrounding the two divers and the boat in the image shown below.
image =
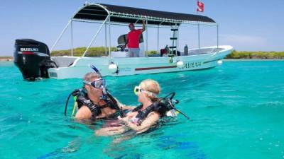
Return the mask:
<svg viewBox="0 0 284 159">
<path fill-rule="evenodd" d="M 80 79 L 23 81 L 11 62 L 1 62 L 0 72 L 0 158 L 284 158 L 284 61 L 107 78 L 126 105 L 138 104 L 133 87 L 153 78 L 162 95 L 177 93 L 177 107 L 191 118 L 129 139 L 94 136 L 99 124 L 64 116 Z"/>
</svg>

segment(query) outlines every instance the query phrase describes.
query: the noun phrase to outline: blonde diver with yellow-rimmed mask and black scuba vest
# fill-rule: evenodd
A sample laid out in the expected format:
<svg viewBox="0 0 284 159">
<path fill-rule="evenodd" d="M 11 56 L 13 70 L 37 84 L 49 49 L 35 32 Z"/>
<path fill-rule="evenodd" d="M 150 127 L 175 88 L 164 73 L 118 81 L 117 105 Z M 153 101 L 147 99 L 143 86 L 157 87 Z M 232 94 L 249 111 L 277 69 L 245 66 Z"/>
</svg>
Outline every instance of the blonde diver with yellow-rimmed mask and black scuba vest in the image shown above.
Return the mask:
<svg viewBox="0 0 284 159">
<path fill-rule="evenodd" d="M 134 88 L 134 93 L 138 96 L 138 102 L 141 102 L 141 105 L 128 112 L 126 117 L 118 117 L 121 124 L 116 125 L 119 126 L 104 127 L 95 131 L 97 136 L 123 134 L 128 130 L 140 134 L 150 129 L 161 117 L 175 117 L 177 115 L 176 111 L 178 110 L 173 106 L 178 103 L 178 100 L 173 100 L 175 93 L 170 93 L 170 98 L 166 98 L 169 95 L 165 98 L 158 98 L 160 86 L 157 81 L 151 79 L 142 81 L 139 86 Z M 185 115 L 185 117 L 187 116 Z"/>
</svg>

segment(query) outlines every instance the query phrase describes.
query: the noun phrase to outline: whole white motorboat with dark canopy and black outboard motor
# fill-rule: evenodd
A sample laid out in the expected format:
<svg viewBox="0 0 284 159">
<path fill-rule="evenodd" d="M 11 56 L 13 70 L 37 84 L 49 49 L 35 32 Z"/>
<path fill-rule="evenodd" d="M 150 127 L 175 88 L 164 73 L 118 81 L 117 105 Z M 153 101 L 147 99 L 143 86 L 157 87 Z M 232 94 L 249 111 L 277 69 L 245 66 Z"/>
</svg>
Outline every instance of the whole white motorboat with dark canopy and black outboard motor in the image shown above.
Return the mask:
<svg viewBox="0 0 284 159">
<path fill-rule="evenodd" d="M 146 40 L 141 40 L 141 57 L 127 57 L 128 52 L 116 51 L 111 52 L 111 25 L 128 25 L 129 23 L 141 24 L 141 19 L 146 20 L 146 31 L 143 33 L 143 37 Z M 65 33 L 65 30 L 70 26 L 72 30 L 72 22 L 79 21 L 82 23 L 101 23 L 99 30 L 92 38 L 87 49 L 82 57 L 49 57 L 49 51 L 41 51 L 42 48 L 36 48 L 37 45 L 25 45 L 25 42 L 34 42 L 32 40 L 18 40 L 16 41 L 16 52 L 14 54 L 15 64 L 23 73 L 24 78 L 82 78 L 85 73 L 92 71 L 89 65 L 94 65 L 102 73 L 102 76 L 129 76 L 143 73 L 165 73 L 175 71 L 193 71 L 210 69 L 218 64 L 222 64 L 222 59 L 230 54 L 233 47 L 229 45 L 219 46 L 218 35 L 218 23 L 207 16 L 192 15 L 185 13 L 171 13 L 165 11 L 153 11 L 142 8 L 131 8 L 125 6 L 114 6 L 108 4 L 84 4 L 72 18 L 70 18 L 66 27 L 62 30 L 62 33 L 55 41 L 55 44 L 51 48 L 51 51 L 60 40 L 60 37 Z M 107 30 L 107 25 L 109 29 Z M 198 43 L 199 47 L 196 49 L 190 49 L 188 55 L 185 55 L 186 51 L 179 48 L 179 28 L 180 25 L 197 25 L 198 26 Z M 217 45 L 212 47 L 200 47 L 200 35 L 199 26 L 210 25 L 217 28 Z M 105 36 L 109 35 L 109 42 L 106 43 L 107 56 L 102 57 L 85 57 L 89 47 L 93 44 L 99 32 L 105 26 Z M 173 37 L 171 38 L 173 45 L 170 47 L 171 52 L 169 54 L 148 55 L 148 28 L 168 28 L 173 31 Z M 108 34 L 107 34 L 108 32 Z M 71 33 L 72 38 L 72 33 Z M 72 39 L 71 39 L 72 40 Z M 159 40 L 159 34 L 158 34 Z M 157 48 L 160 46 L 157 42 Z M 123 45 L 124 42 L 121 42 Z M 118 44 L 121 46 L 121 44 Z M 108 46 L 107 46 L 108 45 Z M 41 46 L 42 47 L 42 46 Z M 145 47 L 145 49 L 144 49 Z M 47 49 L 46 49 L 47 48 Z M 45 50 L 48 47 L 45 46 Z M 50 52 L 51 52 L 50 51 Z M 159 52 L 159 50 L 157 50 Z M 108 53 L 109 52 L 109 53 Z M 71 54 L 73 53 L 73 47 L 71 46 Z M 43 60 L 37 61 L 40 64 L 30 64 L 29 67 L 38 66 L 37 70 L 30 71 L 33 73 L 27 73 L 28 66 L 21 66 L 27 64 L 21 59 L 34 58 L 35 56 L 42 57 Z M 50 61 L 51 59 L 51 61 Z M 32 61 L 32 60 L 30 60 Z M 36 61 L 36 60 L 33 60 Z M 26 73 L 26 75 L 24 74 Z"/>
</svg>

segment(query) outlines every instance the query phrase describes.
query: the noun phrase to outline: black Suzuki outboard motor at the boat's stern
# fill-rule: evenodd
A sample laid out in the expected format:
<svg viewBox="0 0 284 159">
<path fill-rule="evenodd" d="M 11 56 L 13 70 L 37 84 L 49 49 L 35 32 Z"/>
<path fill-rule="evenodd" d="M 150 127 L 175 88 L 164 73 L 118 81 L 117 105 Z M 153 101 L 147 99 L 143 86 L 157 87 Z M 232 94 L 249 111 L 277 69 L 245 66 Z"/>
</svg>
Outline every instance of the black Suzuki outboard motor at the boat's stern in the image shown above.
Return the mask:
<svg viewBox="0 0 284 159">
<path fill-rule="evenodd" d="M 31 39 L 16 40 L 13 58 L 23 78 L 31 81 L 35 78 L 48 78 L 48 69 L 58 67 L 50 59 L 48 46 Z"/>
</svg>

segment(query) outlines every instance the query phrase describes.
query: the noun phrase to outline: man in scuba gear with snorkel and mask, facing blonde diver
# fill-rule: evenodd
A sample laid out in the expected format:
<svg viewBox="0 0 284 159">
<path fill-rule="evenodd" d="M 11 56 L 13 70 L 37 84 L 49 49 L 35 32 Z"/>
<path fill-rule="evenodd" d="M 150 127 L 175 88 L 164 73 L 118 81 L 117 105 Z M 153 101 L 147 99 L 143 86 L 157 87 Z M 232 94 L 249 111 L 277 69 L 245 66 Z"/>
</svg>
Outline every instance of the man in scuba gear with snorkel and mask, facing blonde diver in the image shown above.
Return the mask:
<svg viewBox="0 0 284 159">
<path fill-rule="evenodd" d="M 91 66 L 95 72 L 89 72 L 84 75 L 83 88 L 74 90 L 71 95 L 75 97 L 78 111 L 75 114 L 77 120 L 116 118 L 119 115 L 124 116 L 124 110 L 131 110 L 133 107 L 122 105 L 107 91 L 107 83 L 102 78 L 101 73 L 96 67 Z M 65 115 L 67 112 L 67 102 L 65 105 Z M 75 105 L 76 106 L 76 105 Z M 73 108 L 73 113 L 75 107 Z"/>
</svg>

